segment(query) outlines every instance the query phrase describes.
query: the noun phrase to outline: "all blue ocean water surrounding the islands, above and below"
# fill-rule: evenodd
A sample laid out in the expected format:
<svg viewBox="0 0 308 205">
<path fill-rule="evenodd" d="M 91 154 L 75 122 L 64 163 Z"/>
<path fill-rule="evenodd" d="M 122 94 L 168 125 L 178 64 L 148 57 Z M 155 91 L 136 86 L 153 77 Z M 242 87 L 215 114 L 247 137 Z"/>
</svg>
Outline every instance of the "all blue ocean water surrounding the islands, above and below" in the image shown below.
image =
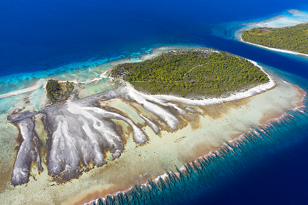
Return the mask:
<svg viewBox="0 0 308 205">
<path fill-rule="evenodd" d="M 89 66 L 137 59 L 155 48 L 175 46 L 204 46 L 241 55 L 307 91 L 307 57 L 265 50 L 234 37 L 247 22 L 279 15 L 295 18 L 287 12 L 290 9 L 308 11 L 308 3 L 1 1 L 0 94 L 57 75 L 86 81 L 100 74 Z M 82 77 L 76 77 L 75 70 Z M 10 107 L 8 101 L 0 100 L 2 114 Z M 306 204 L 308 115 L 290 112 L 294 119 L 275 125 L 266 142 L 247 143 L 242 154 L 213 171 L 211 183 L 200 177 L 189 189 L 166 191 L 160 203 Z"/>
</svg>

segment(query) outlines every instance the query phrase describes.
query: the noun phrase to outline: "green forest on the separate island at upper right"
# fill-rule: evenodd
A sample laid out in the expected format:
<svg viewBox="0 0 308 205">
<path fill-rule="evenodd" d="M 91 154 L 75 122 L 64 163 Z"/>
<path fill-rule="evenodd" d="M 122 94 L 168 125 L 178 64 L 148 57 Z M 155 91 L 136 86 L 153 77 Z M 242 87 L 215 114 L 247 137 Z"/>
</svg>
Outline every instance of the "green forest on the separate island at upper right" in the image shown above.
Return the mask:
<svg viewBox="0 0 308 205">
<path fill-rule="evenodd" d="M 308 54 L 308 23 L 283 28 L 253 28 L 244 30 L 243 41 L 270 48 Z"/>
</svg>

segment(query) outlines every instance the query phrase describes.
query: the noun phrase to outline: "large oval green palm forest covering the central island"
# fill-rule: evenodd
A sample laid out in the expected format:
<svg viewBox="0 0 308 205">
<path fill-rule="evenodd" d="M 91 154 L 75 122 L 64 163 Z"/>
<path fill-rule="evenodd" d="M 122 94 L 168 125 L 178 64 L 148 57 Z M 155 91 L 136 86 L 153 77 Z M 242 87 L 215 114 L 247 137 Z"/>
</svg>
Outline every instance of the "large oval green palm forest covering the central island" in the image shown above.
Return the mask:
<svg viewBox="0 0 308 205">
<path fill-rule="evenodd" d="M 154 58 L 114 66 L 111 77 L 123 77 L 137 90 L 186 98 L 227 96 L 268 78 L 240 56 L 203 48 L 166 51 Z"/>
</svg>

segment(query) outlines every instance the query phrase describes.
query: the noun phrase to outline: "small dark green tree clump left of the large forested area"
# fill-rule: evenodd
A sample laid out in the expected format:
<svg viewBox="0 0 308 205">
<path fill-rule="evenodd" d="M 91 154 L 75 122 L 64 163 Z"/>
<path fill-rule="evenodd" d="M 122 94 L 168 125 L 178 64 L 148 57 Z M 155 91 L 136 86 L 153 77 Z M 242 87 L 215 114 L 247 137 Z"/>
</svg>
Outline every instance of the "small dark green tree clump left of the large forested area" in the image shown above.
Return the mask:
<svg viewBox="0 0 308 205">
<path fill-rule="evenodd" d="M 57 80 L 48 80 L 46 84 L 46 91 L 51 103 L 54 104 L 57 102 L 65 101 L 68 97 L 71 96 L 74 90 L 74 86 L 67 81 L 65 88 L 67 90 L 63 91 Z"/>
</svg>

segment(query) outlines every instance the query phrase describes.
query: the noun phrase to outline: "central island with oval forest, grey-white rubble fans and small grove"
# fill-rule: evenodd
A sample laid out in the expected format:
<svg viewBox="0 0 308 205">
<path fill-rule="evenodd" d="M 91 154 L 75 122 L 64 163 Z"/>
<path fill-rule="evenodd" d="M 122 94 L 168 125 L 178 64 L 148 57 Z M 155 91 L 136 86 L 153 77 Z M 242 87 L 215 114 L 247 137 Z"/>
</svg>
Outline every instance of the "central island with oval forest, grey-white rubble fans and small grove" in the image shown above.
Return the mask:
<svg viewBox="0 0 308 205">
<path fill-rule="evenodd" d="M 200 111 L 177 104 L 179 102 L 202 105 L 208 103 L 209 97 L 229 101 L 238 98 L 237 92 L 254 90 L 262 84 L 268 84 L 265 90 L 276 85 L 268 74 L 247 59 L 203 48 L 168 50 L 143 62 L 118 64 L 109 75 L 118 84 L 117 91 L 109 90 L 83 99 L 74 92 L 71 82 L 50 79 L 45 86 L 50 107 L 8 116 L 24 139 L 18 145 L 11 176 L 14 186 L 29 181 L 32 162 L 43 171 L 42 158 L 56 183 L 65 183 L 94 167 L 103 166 L 107 163 L 107 152 L 115 160 L 124 151 L 126 129 L 136 144 L 143 145 L 149 140 L 142 130 L 144 123 L 156 135 L 162 130 L 172 132 L 186 127 L 190 122 L 188 116 Z M 130 84 L 125 84 L 121 78 Z M 178 99 L 174 100 L 177 103 L 170 102 L 172 96 L 159 99 L 151 97 L 152 94 L 177 95 Z M 138 121 L 144 120 L 144 123 L 134 123 L 127 112 L 106 104 L 115 98 L 136 107 Z M 130 128 L 119 124 L 119 120 Z M 38 135 L 38 132 L 45 134 Z"/>
</svg>

